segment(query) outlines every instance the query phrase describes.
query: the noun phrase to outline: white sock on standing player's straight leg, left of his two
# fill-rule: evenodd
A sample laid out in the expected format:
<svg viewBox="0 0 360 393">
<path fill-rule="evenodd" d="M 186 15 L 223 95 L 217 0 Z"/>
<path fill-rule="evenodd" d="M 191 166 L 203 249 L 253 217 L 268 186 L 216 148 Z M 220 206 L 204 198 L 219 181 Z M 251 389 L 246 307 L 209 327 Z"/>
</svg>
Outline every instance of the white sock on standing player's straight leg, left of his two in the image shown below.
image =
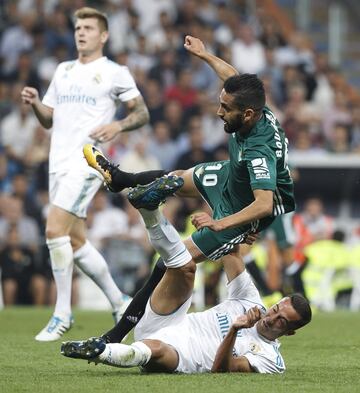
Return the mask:
<svg viewBox="0 0 360 393">
<path fill-rule="evenodd" d="M 51 268 L 56 285 L 54 315 L 64 319 L 71 316 L 71 284 L 74 268 L 70 236 L 46 239 L 50 252 Z"/>
</svg>

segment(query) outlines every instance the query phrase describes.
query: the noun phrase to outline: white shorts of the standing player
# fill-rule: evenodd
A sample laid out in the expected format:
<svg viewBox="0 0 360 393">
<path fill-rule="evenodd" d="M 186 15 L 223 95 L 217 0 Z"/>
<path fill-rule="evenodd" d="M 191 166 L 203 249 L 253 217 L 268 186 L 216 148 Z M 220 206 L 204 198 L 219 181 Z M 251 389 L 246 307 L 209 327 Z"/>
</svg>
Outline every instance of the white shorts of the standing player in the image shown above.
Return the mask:
<svg viewBox="0 0 360 393">
<path fill-rule="evenodd" d="M 50 203 L 86 218 L 86 211 L 103 181 L 93 172 L 50 173 Z"/>
</svg>

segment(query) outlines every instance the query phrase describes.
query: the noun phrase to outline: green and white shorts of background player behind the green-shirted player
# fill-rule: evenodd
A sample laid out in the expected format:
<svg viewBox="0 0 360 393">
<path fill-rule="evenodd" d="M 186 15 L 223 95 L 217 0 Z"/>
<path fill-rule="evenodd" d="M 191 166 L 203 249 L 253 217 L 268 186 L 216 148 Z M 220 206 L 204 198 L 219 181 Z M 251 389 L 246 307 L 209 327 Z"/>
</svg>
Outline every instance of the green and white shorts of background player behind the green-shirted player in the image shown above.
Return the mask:
<svg viewBox="0 0 360 393">
<path fill-rule="evenodd" d="M 285 250 L 296 242 L 293 216 L 294 212 L 277 216 L 274 222 L 266 229 L 265 237 L 275 239 L 280 250 Z"/>
</svg>

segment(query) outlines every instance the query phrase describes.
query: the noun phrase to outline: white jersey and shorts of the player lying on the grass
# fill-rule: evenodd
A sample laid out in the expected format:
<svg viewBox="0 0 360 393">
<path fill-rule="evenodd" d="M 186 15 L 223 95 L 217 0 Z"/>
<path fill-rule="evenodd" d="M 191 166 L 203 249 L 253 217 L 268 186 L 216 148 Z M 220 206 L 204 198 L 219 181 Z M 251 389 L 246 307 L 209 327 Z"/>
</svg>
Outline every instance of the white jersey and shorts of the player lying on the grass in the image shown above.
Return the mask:
<svg viewBox="0 0 360 393">
<path fill-rule="evenodd" d="M 182 319 L 175 320 L 176 313 L 185 313 L 189 307 L 189 299 L 175 313 L 168 326 L 161 325 L 160 316 L 153 313 L 153 321 L 145 321 L 156 333 L 143 331 L 138 337 L 137 330 L 141 329 L 142 320 L 135 329 L 136 339 L 158 339 L 175 348 L 179 354 L 179 365 L 176 369 L 183 373 L 209 372 L 214 363 L 216 352 L 229 331 L 232 322 L 250 308 L 257 306 L 265 313 L 258 290 L 251 281 L 249 274 L 244 271 L 228 284 L 228 299 L 209 310 L 184 314 Z M 149 306 L 147 307 L 149 309 Z M 145 315 L 146 317 L 146 315 Z M 153 323 L 150 323 L 153 322 Z M 160 322 L 160 323 L 159 323 Z M 157 325 L 157 326 L 156 326 Z M 285 364 L 279 352 L 278 340 L 269 341 L 260 336 L 256 325 L 250 329 L 240 329 L 234 345 L 233 355 L 245 356 L 251 367 L 259 373 L 282 373 Z"/>
</svg>

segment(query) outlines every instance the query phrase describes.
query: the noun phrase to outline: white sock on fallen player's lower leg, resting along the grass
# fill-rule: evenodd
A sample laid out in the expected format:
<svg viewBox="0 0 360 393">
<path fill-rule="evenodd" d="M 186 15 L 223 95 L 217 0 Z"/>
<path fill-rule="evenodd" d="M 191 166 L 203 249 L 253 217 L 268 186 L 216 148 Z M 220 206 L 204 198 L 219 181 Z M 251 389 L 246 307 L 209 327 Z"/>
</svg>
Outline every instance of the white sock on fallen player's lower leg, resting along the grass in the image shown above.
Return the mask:
<svg viewBox="0 0 360 393">
<path fill-rule="evenodd" d="M 141 341 L 131 345 L 106 344 L 98 358 L 101 363 L 114 367 L 144 366 L 151 359 L 151 349 Z"/>
</svg>

